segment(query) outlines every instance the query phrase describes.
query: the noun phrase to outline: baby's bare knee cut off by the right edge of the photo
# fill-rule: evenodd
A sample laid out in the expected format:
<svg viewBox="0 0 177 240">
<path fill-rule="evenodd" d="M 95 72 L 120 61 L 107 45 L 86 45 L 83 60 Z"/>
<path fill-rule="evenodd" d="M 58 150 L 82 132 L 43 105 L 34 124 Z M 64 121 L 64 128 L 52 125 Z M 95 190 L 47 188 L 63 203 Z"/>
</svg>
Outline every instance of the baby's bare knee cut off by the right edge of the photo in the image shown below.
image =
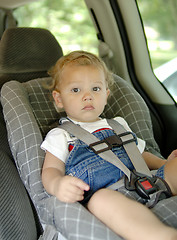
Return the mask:
<svg viewBox="0 0 177 240">
<path fill-rule="evenodd" d="M 173 195 L 177 195 L 177 157 L 165 164 L 165 180 L 168 183 Z"/>
</svg>

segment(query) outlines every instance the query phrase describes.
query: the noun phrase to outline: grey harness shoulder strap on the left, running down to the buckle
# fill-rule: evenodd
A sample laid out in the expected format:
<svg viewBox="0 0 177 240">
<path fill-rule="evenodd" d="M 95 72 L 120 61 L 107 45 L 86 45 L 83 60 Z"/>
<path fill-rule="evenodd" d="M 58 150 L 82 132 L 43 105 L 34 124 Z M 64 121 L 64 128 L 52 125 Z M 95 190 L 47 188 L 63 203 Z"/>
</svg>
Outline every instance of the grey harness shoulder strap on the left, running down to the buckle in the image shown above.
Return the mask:
<svg viewBox="0 0 177 240">
<path fill-rule="evenodd" d="M 111 151 L 111 143 L 105 142 L 89 133 L 87 130 L 83 129 L 79 125 L 74 124 L 71 121 L 64 122 L 60 125 L 60 128 L 66 130 L 70 134 L 74 135 L 81 141 L 85 142 L 92 150 L 97 153 L 104 160 L 114 164 L 118 167 L 124 174 L 128 177 L 130 181 L 131 172 L 130 170 L 120 161 L 120 159 Z"/>
</svg>

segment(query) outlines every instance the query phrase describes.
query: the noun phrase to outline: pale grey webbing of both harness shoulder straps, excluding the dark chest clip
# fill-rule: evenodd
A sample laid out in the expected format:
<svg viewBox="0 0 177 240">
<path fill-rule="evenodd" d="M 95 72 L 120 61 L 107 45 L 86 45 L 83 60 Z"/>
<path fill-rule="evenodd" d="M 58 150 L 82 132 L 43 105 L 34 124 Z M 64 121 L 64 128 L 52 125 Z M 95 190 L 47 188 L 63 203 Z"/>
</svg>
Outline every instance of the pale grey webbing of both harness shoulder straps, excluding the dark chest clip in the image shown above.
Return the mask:
<svg viewBox="0 0 177 240">
<path fill-rule="evenodd" d="M 119 124 L 116 120 L 113 119 L 107 119 L 108 124 L 112 127 L 112 129 L 115 131 L 117 135 L 127 132 L 124 127 Z M 87 145 L 93 144 L 95 142 L 100 141 L 97 137 L 95 137 L 93 134 L 89 133 L 87 130 L 83 129 L 82 127 L 74 124 L 73 122 L 64 122 L 62 125 L 60 125 L 61 128 L 68 131 L 72 135 L 76 136 L 78 139 L 85 142 Z M 127 141 L 127 136 L 121 136 L 122 141 Z M 138 173 L 145 174 L 147 176 L 152 176 L 149 168 L 147 167 L 143 157 L 141 156 L 141 153 L 139 152 L 136 143 L 130 142 L 127 144 L 124 144 L 124 149 L 127 152 L 130 160 L 132 161 L 132 164 L 134 165 L 136 171 Z M 106 148 L 107 144 L 106 142 L 102 142 L 97 144 L 94 148 L 95 150 Z M 97 149 L 98 148 L 98 149 Z M 118 167 L 121 171 L 124 172 L 124 174 L 128 177 L 130 181 L 131 171 L 121 162 L 121 160 L 111 151 L 107 150 L 104 152 L 98 153 L 98 155 L 103 158 L 104 160 L 114 164 L 116 167 Z"/>
</svg>

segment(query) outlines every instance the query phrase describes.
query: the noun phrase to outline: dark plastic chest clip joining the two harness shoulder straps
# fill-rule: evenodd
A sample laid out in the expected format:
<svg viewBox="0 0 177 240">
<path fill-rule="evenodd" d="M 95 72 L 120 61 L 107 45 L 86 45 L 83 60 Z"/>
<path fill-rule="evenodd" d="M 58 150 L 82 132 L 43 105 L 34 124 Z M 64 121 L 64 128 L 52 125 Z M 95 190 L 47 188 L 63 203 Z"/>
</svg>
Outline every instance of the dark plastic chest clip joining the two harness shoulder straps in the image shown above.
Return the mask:
<svg viewBox="0 0 177 240">
<path fill-rule="evenodd" d="M 128 135 L 131 135 L 131 137 L 129 137 L 126 140 L 123 140 L 123 137 L 127 137 Z M 123 146 L 124 144 L 134 141 L 136 141 L 136 138 L 131 132 L 124 132 L 119 135 L 114 134 L 112 136 L 104 138 L 103 140 L 91 143 L 89 147 L 95 154 L 99 154 L 107 150 L 111 150 L 113 147 L 120 147 Z"/>
</svg>

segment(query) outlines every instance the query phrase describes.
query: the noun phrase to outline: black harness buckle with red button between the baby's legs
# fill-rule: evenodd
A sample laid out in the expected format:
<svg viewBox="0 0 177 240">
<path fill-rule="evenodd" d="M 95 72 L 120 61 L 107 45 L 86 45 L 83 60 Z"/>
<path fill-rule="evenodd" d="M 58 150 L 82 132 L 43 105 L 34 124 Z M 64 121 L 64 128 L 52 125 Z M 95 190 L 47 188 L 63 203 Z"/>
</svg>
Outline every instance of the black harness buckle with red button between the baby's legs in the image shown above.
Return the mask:
<svg viewBox="0 0 177 240">
<path fill-rule="evenodd" d="M 144 176 L 133 170 L 130 181 L 125 176 L 125 188 L 130 191 L 136 191 L 144 199 L 150 199 L 150 195 L 157 192 L 159 187 L 155 184 L 156 177 Z"/>
</svg>

